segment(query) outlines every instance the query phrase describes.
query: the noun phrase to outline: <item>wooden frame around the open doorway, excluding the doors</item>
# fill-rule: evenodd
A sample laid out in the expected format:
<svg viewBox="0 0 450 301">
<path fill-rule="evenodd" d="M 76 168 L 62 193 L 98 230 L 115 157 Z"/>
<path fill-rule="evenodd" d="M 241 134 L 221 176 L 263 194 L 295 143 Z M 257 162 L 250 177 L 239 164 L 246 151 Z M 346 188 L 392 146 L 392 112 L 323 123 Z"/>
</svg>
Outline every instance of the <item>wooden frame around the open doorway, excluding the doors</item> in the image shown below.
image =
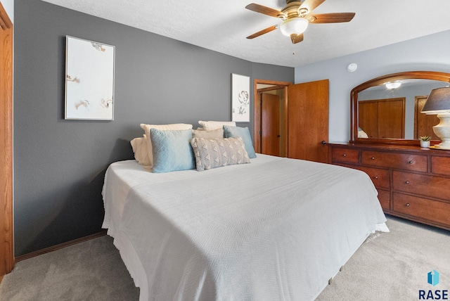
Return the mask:
<svg viewBox="0 0 450 301">
<path fill-rule="evenodd" d="M 261 153 L 261 136 L 259 136 L 259 132 L 262 131 L 261 120 L 259 119 L 259 115 L 261 114 L 261 108 L 258 101 L 258 84 L 270 84 L 274 87 L 271 87 L 271 90 L 285 89 L 284 99 L 284 112 L 280 111 L 280 115 L 283 114 L 287 116 L 288 114 L 288 87 L 292 84 L 292 82 L 278 82 L 274 80 L 266 80 L 266 79 L 255 79 L 253 81 L 253 147 L 255 148 L 256 153 Z M 282 116 L 280 116 L 282 117 Z M 285 131 L 287 129 L 287 119 L 284 118 L 285 123 Z M 286 133 L 283 133 L 285 135 Z M 285 146 L 287 147 L 287 146 Z"/>
</svg>

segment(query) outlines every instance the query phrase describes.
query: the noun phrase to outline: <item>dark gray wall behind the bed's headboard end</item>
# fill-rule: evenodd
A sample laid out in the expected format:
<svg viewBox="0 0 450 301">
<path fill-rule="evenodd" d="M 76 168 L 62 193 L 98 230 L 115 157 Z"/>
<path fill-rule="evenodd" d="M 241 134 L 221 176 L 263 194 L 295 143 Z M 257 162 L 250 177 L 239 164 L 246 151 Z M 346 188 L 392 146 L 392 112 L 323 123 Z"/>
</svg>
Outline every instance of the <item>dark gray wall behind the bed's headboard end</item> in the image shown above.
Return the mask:
<svg viewBox="0 0 450 301">
<path fill-rule="evenodd" d="M 231 73 L 293 82 L 251 63 L 42 1 L 15 1 L 15 255 L 101 231 L 111 162 L 133 158 L 140 123 L 230 120 Z M 65 36 L 115 46 L 115 120 L 64 120 Z M 248 126 L 252 122 L 239 124 Z"/>
</svg>

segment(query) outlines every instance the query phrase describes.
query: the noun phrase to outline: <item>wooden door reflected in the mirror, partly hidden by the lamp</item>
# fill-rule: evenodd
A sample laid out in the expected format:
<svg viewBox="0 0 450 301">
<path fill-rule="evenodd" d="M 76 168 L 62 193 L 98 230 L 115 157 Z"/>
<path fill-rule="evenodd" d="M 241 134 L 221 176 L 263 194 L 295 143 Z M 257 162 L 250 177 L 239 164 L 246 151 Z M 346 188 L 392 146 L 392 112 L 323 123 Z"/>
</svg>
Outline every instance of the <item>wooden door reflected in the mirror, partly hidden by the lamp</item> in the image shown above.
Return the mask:
<svg viewBox="0 0 450 301">
<path fill-rule="evenodd" d="M 420 136 L 431 136 L 432 140 L 440 140 L 433 131 L 433 127 L 439 124 L 437 115 L 420 113 L 427 98 L 428 96 L 416 96 L 414 105 L 414 139 L 420 139 Z"/>
</svg>

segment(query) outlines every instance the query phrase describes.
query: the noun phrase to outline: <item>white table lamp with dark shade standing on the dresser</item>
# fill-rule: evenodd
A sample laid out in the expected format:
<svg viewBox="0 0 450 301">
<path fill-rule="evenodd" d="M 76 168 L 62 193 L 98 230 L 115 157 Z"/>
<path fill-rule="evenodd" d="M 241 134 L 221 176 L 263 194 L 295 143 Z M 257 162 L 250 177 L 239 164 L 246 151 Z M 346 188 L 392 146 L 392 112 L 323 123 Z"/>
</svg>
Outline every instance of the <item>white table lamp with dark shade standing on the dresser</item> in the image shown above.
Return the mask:
<svg viewBox="0 0 450 301">
<path fill-rule="evenodd" d="M 440 122 L 433 131 L 442 142 L 434 148 L 450 150 L 450 87 L 432 89 L 421 113 L 437 114 Z"/>
</svg>

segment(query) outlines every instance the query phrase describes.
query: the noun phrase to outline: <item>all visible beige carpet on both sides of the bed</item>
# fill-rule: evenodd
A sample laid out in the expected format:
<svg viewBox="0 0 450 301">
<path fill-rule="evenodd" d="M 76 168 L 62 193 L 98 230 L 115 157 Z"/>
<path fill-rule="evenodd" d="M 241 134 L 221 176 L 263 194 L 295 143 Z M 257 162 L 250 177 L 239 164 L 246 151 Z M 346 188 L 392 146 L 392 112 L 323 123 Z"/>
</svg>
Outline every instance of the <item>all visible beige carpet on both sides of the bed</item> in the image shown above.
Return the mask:
<svg viewBox="0 0 450 301">
<path fill-rule="evenodd" d="M 395 217 L 387 225 L 391 232 L 366 241 L 317 300 L 418 300 L 419 290 L 450 290 L 450 231 Z M 6 300 L 139 300 L 139 288 L 103 236 L 18 262 L 0 286 Z"/>
</svg>

